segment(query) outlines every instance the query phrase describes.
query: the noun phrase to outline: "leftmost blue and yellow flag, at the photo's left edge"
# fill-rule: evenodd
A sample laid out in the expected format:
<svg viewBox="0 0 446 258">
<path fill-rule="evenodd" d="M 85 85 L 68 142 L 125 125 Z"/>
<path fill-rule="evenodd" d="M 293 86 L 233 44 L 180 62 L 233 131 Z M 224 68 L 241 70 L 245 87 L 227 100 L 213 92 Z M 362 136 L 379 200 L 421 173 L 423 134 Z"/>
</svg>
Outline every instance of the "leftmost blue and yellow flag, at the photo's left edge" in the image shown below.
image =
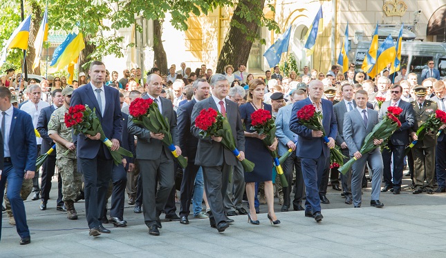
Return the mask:
<svg viewBox="0 0 446 258">
<path fill-rule="evenodd" d="M 19 27 L 17 27 L 14 32 L 12 32 L 11 37 L 6 41 L 6 45 L 1 52 L 0 64 L 6 61 L 6 54 L 8 50 L 11 48 L 20 48 L 23 50 L 28 49 L 28 39 L 30 37 L 30 23 L 31 23 L 31 14 L 26 17 L 21 23 Z"/>
</svg>

